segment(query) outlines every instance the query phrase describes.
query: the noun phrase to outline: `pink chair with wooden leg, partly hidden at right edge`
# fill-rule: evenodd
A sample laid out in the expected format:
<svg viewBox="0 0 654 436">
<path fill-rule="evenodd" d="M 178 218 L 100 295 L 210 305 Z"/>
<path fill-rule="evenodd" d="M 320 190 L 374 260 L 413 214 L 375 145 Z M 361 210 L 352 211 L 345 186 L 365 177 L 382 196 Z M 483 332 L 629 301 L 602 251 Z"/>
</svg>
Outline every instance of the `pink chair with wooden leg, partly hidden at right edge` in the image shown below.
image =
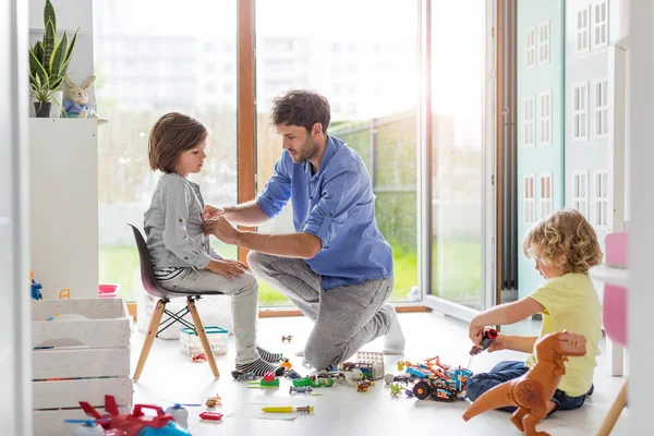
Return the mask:
<svg viewBox="0 0 654 436">
<path fill-rule="evenodd" d="M 606 263 L 610 266 L 627 267 L 627 233 L 606 235 Z M 606 335 L 622 347 L 627 347 L 627 288 L 604 286 L 603 302 L 604 329 Z M 604 419 L 597 436 L 610 434 L 622 409 L 627 405 L 627 383 L 618 392 L 608 414 Z"/>
</svg>

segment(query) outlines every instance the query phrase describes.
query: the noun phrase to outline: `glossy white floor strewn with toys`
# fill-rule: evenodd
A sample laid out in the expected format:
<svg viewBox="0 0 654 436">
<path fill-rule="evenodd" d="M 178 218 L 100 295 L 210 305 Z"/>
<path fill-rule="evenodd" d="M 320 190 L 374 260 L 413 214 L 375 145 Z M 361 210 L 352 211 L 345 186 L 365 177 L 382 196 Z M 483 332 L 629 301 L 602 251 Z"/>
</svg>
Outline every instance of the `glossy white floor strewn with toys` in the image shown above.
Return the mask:
<svg viewBox="0 0 654 436">
<path fill-rule="evenodd" d="M 440 355 L 450 364 L 467 365 L 469 360 L 467 325 L 435 313 L 400 314 L 404 335 L 408 338 L 403 359 L 419 361 Z M 536 322 L 524 322 L 512 326 L 521 334 L 537 331 Z M 259 319 L 259 343 L 270 351 L 281 351 L 291 358 L 301 374 L 310 370 L 301 365 L 294 351 L 304 343 L 311 323 L 303 317 Z M 282 335 L 293 335 L 292 343 L 281 343 Z M 132 340 L 132 367 L 141 352 L 143 334 L 136 332 Z M 222 422 L 201 421 L 198 414 L 205 407 L 190 408 L 189 429 L 202 435 L 398 435 L 436 434 L 448 435 L 519 435 L 509 422 L 509 414 L 492 411 L 464 422 L 461 414 L 467 401 L 439 403 L 413 398 L 391 398 L 380 380 L 368 392 L 356 392 L 346 384 L 324 388 L 316 399 L 315 414 L 302 415 L 294 421 L 255 420 L 230 417 L 229 414 L 244 402 L 259 395 L 289 397 L 289 380 L 282 379 L 280 389 L 247 389 L 246 384 L 232 379 L 233 337 L 229 340 L 229 354 L 218 358 L 219 379 L 214 379 L 207 363 L 192 363 L 179 351 L 178 341 L 156 340 L 145 365 L 141 380 L 134 385 L 134 403 L 155 403 L 164 408 L 167 401 L 204 403 L 216 393 L 222 397 Z M 378 351 L 380 340 L 370 343 L 364 350 Z M 601 343 L 604 350 L 604 341 Z M 523 359 L 516 352 L 483 353 L 473 359 L 471 370 L 484 372 L 501 360 Z M 386 372 L 397 372 L 398 356 L 386 358 Z M 558 412 L 542 423 L 538 429 L 554 435 L 595 434 L 610 403 L 622 384 L 621 378 L 606 375 L 604 356 L 600 356 L 595 371 L 595 393 L 577 411 Z M 296 396 L 296 395 L 295 395 Z M 218 411 L 220 411 L 218 409 Z M 625 410 L 614 435 L 627 434 L 629 411 Z"/>
</svg>

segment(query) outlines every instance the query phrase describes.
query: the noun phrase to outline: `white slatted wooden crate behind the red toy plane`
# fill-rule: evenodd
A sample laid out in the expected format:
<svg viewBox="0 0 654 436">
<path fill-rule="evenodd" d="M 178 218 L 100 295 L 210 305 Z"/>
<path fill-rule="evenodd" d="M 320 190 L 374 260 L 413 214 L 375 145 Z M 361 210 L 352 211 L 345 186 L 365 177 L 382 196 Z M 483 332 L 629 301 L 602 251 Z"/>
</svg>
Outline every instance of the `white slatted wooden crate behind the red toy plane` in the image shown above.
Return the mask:
<svg viewBox="0 0 654 436">
<path fill-rule="evenodd" d="M 119 408 L 129 411 L 130 336 L 131 317 L 122 299 L 32 303 L 32 347 L 51 347 L 32 351 L 35 435 L 72 434 L 74 427 L 63 419 L 84 417 L 78 401 L 104 408 L 105 395 L 113 395 Z"/>
</svg>

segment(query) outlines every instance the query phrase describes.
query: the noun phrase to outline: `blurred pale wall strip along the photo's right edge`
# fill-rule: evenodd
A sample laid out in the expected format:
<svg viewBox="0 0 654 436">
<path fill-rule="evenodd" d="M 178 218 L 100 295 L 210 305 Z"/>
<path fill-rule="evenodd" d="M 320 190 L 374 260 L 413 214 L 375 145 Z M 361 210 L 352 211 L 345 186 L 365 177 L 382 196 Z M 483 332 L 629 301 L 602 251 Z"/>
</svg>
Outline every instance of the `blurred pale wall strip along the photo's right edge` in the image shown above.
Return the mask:
<svg viewBox="0 0 654 436">
<path fill-rule="evenodd" d="M 629 229 L 629 434 L 652 434 L 654 349 L 650 319 L 654 310 L 652 247 L 654 247 L 654 5 L 630 3 L 629 107 L 631 141 L 631 226 Z"/>
</svg>

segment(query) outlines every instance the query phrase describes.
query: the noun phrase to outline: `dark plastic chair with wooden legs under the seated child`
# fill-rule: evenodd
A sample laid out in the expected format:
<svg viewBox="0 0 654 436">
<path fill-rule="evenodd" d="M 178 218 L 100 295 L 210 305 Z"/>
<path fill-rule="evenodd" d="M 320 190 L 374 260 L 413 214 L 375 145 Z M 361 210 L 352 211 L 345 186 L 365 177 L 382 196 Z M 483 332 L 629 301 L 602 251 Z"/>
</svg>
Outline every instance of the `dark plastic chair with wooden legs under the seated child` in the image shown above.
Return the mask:
<svg viewBox="0 0 654 436">
<path fill-rule="evenodd" d="M 136 247 L 138 249 L 138 257 L 141 261 L 141 281 L 143 283 L 143 288 L 150 295 L 159 299 L 155 311 L 153 313 L 153 317 L 150 318 L 150 323 L 147 329 L 147 334 L 145 336 L 145 342 L 143 342 L 143 349 L 141 350 L 141 356 L 138 358 L 138 364 L 136 365 L 136 371 L 134 372 L 134 382 L 138 380 L 141 377 L 141 373 L 143 372 L 143 367 L 145 366 L 145 361 L 147 360 L 147 355 L 149 354 L 150 349 L 153 348 L 153 342 L 155 341 L 155 337 L 170 327 L 174 323 L 181 323 L 184 326 L 194 329 L 199 337 L 199 341 L 205 351 L 205 356 L 209 362 L 209 366 L 211 367 L 211 373 L 214 373 L 214 377 L 219 377 L 220 373 L 218 372 L 218 366 L 216 365 L 216 358 L 214 356 L 214 351 L 209 346 L 209 340 L 207 339 L 207 335 L 205 334 L 204 327 L 202 325 L 202 320 L 199 319 L 199 315 L 197 314 L 197 308 L 195 307 L 195 301 L 199 300 L 202 295 L 214 295 L 220 294 L 220 292 L 173 292 L 167 289 L 164 289 L 157 283 L 155 279 L 155 271 L 153 269 L 153 264 L 150 261 L 149 250 L 141 233 L 141 230 L 136 228 L 134 225 L 129 223 L 134 232 L 134 239 L 136 241 Z M 186 307 L 179 311 L 178 313 L 172 313 L 166 310 L 166 304 L 175 298 L 186 298 Z M 193 318 L 193 325 L 187 323 L 182 317 L 191 313 L 191 317 Z M 161 322 L 161 317 L 164 314 L 167 314 L 169 317 Z"/>
</svg>

